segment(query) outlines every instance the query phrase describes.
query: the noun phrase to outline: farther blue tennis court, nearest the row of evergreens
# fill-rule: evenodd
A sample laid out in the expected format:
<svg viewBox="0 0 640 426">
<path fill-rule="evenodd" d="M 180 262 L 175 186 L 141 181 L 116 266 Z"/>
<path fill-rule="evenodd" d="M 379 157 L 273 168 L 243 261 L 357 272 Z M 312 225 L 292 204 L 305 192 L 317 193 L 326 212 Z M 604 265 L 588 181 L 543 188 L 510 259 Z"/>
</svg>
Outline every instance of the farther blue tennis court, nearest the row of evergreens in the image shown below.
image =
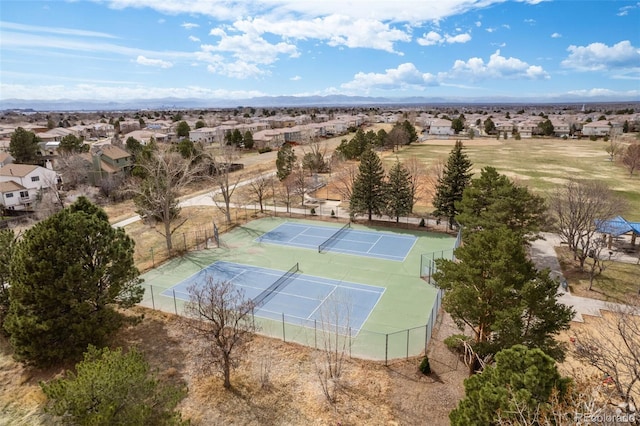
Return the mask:
<svg viewBox="0 0 640 426">
<path fill-rule="evenodd" d="M 404 262 L 417 240 L 413 235 L 361 231 L 345 226 L 285 222 L 256 241 Z"/>
</svg>

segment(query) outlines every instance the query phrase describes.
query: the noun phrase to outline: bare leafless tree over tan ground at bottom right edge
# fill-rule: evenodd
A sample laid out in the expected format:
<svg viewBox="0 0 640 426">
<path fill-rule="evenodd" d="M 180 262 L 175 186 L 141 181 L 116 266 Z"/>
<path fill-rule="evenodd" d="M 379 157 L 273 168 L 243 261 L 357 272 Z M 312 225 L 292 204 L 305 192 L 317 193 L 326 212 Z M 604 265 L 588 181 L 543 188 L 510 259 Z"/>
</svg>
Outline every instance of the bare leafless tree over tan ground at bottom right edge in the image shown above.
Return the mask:
<svg viewBox="0 0 640 426">
<path fill-rule="evenodd" d="M 640 305 L 611 305 L 598 327 L 580 329 L 574 356 L 610 378 L 627 412 L 640 395 Z"/>
</svg>

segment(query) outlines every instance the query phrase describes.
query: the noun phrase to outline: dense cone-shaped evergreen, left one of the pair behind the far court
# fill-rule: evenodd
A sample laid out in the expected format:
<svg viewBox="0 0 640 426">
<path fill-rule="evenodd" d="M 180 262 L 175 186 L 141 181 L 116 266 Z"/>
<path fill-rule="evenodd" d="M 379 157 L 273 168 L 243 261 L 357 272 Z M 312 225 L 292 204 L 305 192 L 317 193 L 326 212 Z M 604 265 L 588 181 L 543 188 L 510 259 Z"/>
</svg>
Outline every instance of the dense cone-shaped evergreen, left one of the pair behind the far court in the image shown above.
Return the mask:
<svg viewBox="0 0 640 426">
<path fill-rule="evenodd" d="M 373 214 L 382 214 L 386 205 L 385 187 L 382 161 L 372 149 L 367 149 L 360 157 L 358 176 L 353 182 L 351 215 L 367 214 L 371 220 Z"/>
</svg>

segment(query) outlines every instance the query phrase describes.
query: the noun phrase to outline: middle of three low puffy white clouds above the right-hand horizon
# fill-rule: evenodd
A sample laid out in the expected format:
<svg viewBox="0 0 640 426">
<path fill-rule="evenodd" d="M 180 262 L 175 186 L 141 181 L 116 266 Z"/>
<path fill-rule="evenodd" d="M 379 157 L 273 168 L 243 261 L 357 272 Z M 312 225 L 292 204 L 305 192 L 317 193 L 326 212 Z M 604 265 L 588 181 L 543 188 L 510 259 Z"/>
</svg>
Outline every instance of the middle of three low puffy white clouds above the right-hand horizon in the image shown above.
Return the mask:
<svg viewBox="0 0 640 426">
<path fill-rule="evenodd" d="M 469 78 L 484 80 L 489 78 L 506 79 L 547 79 L 549 74 L 538 65 L 529 65 L 517 58 L 506 58 L 496 50 L 487 63 L 482 58 L 458 59 L 448 73 L 441 75 L 447 79 Z"/>
</svg>

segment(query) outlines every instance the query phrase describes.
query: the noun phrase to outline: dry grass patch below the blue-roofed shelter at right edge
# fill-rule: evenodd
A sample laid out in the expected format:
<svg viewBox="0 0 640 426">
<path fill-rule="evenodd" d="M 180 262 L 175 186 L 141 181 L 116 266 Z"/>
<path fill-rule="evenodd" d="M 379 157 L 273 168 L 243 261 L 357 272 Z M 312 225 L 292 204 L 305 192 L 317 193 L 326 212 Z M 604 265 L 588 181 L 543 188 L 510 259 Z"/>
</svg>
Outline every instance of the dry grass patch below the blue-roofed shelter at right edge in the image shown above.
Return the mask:
<svg viewBox="0 0 640 426">
<path fill-rule="evenodd" d="M 589 290 L 589 274 L 580 271 L 569 249 L 556 247 L 556 253 L 562 273 L 574 295 L 625 303 L 640 297 L 640 265 L 612 262 L 601 275 L 595 277 L 593 287 Z"/>
</svg>

